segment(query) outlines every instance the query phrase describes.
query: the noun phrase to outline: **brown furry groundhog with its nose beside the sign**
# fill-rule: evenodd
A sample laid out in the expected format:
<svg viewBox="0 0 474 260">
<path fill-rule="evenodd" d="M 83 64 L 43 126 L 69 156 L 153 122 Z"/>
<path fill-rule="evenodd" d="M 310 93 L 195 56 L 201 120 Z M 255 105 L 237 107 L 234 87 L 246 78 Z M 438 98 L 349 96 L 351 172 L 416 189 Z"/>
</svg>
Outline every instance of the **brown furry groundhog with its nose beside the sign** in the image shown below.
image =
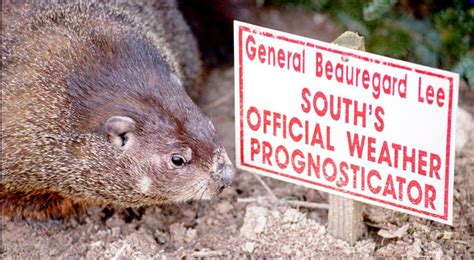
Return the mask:
<svg viewBox="0 0 474 260">
<path fill-rule="evenodd" d="M 213 198 L 234 171 L 176 3 L 2 2 L 2 214 Z"/>
</svg>

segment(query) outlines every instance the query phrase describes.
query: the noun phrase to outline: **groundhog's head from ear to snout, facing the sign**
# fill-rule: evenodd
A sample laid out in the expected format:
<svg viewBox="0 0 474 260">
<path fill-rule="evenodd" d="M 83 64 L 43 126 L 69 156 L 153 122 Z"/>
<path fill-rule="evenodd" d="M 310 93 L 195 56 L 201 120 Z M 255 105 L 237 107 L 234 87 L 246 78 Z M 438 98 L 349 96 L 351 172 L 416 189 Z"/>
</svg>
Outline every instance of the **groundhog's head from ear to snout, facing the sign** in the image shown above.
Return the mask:
<svg viewBox="0 0 474 260">
<path fill-rule="evenodd" d="M 130 111 L 107 118 L 104 131 L 141 203 L 211 199 L 231 184 L 232 163 L 212 122 L 168 75 L 160 83 L 166 91 L 135 99 Z"/>
</svg>

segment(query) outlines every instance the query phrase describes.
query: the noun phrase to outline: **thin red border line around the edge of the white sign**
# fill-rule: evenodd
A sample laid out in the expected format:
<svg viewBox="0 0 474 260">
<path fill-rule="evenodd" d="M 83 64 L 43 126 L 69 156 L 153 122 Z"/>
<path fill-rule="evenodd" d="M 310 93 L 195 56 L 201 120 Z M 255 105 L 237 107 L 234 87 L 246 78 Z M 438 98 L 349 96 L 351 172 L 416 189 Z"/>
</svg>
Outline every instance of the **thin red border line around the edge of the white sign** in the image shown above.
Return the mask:
<svg viewBox="0 0 474 260">
<path fill-rule="evenodd" d="M 394 202 L 384 201 L 384 200 L 373 198 L 373 197 L 370 197 L 370 196 L 367 196 L 367 195 L 358 194 L 357 192 L 347 191 L 347 190 L 343 190 L 341 188 L 325 185 L 325 184 L 318 183 L 318 182 L 315 182 L 315 181 L 306 180 L 306 179 L 303 179 L 303 178 L 300 178 L 300 177 L 297 177 L 297 176 L 292 176 L 292 175 L 277 172 L 277 171 L 274 171 L 274 170 L 268 170 L 268 169 L 265 169 L 263 167 L 251 165 L 251 164 L 248 164 L 248 163 L 244 162 L 244 153 L 243 153 L 243 151 L 244 151 L 244 117 L 243 117 L 244 116 L 244 110 L 243 110 L 243 93 L 244 93 L 243 92 L 243 87 L 244 87 L 243 79 L 244 79 L 244 75 L 243 75 L 243 58 L 242 58 L 242 52 L 243 52 L 243 50 L 242 50 L 242 34 L 243 34 L 243 32 L 249 32 L 249 33 L 262 35 L 262 36 L 265 36 L 265 37 L 270 37 L 270 38 L 274 38 L 274 39 L 278 39 L 278 40 L 282 40 L 282 41 L 286 41 L 286 42 L 290 42 L 290 43 L 295 43 L 295 44 L 300 44 L 300 45 L 320 49 L 320 50 L 323 50 L 323 51 L 333 52 L 333 53 L 336 53 L 336 54 L 342 54 L 342 55 L 350 56 L 350 57 L 353 57 L 353 58 L 356 58 L 356 59 L 361 59 L 361 60 L 364 60 L 364 61 L 367 61 L 367 62 L 373 62 L 373 63 L 376 63 L 376 64 L 386 65 L 386 66 L 389 66 L 389 67 L 404 69 L 404 70 L 408 70 L 408 71 L 415 71 L 416 73 L 424 74 L 424 75 L 428 75 L 428 76 L 432 76 L 432 77 L 447 79 L 449 81 L 449 101 L 448 101 L 448 126 L 447 126 L 447 140 L 446 140 L 447 146 L 446 146 L 446 175 L 445 175 L 445 194 L 444 194 L 444 214 L 443 215 L 434 214 L 434 213 L 427 212 L 427 211 L 424 211 L 424 210 L 419 210 L 419 209 L 416 209 L 416 208 L 400 205 L 400 204 L 397 204 L 397 203 L 394 203 Z M 244 25 L 239 25 L 239 36 L 238 37 L 239 37 L 239 101 L 240 101 L 240 103 L 239 103 L 239 108 L 240 108 L 240 111 L 239 111 L 239 113 L 240 113 L 240 133 L 239 134 L 240 134 L 240 164 L 241 165 L 249 167 L 249 168 L 253 168 L 253 169 L 256 169 L 256 170 L 264 171 L 264 172 L 267 172 L 267 173 L 280 175 L 280 176 L 290 178 L 290 179 L 293 179 L 293 180 L 305 182 L 305 183 L 312 184 L 312 185 L 315 185 L 315 186 L 324 187 L 326 189 L 335 190 L 335 191 L 338 191 L 338 192 L 341 192 L 341 193 L 350 194 L 350 195 L 360 197 L 360 198 L 364 198 L 364 199 L 367 199 L 367 200 L 372 200 L 372 201 L 375 201 L 375 202 L 378 202 L 378 203 L 381 203 L 381 204 L 386 204 L 386 205 L 390 205 L 390 206 L 393 206 L 393 207 L 409 210 L 409 211 L 412 211 L 412 212 L 417 212 L 417 213 L 420 213 L 422 215 L 430 216 L 430 217 L 433 217 L 433 218 L 439 218 L 439 219 L 442 219 L 442 220 L 445 220 L 445 221 L 448 220 L 448 203 L 449 203 L 449 201 L 448 201 L 448 192 L 449 192 L 449 169 L 450 169 L 450 163 L 449 163 L 450 160 L 449 159 L 450 159 L 450 155 L 451 155 L 450 154 L 451 153 L 451 149 L 450 149 L 451 148 L 450 147 L 451 120 L 452 120 L 451 114 L 452 114 L 452 107 L 453 107 L 453 81 L 454 81 L 453 77 L 445 76 L 445 75 L 441 75 L 441 74 L 437 74 L 437 73 L 433 73 L 433 72 L 429 72 L 429 71 L 424 71 L 424 70 L 421 70 L 421 69 L 409 68 L 405 65 L 396 64 L 396 63 L 391 62 L 391 61 L 382 62 L 382 61 L 380 61 L 376 58 L 372 58 L 372 57 L 369 58 L 369 57 L 365 57 L 363 55 L 356 54 L 356 53 L 336 50 L 336 49 L 332 49 L 332 48 L 329 48 L 329 47 L 320 46 L 320 45 L 317 45 L 317 44 L 314 44 L 314 43 L 305 42 L 303 40 L 290 39 L 287 36 L 276 35 L 275 33 L 271 33 L 271 32 L 258 32 L 257 30 L 251 30 L 249 27 L 244 26 Z"/>
</svg>

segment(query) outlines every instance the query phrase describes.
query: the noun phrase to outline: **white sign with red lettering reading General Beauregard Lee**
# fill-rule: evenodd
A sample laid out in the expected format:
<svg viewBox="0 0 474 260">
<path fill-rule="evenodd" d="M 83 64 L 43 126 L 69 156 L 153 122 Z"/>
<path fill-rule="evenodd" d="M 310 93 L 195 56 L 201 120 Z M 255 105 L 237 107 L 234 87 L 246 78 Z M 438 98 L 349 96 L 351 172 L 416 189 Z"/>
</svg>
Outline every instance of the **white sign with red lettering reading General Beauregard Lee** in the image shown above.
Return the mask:
<svg viewBox="0 0 474 260">
<path fill-rule="evenodd" d="M 452 224 L 459 76 L 234 23 L 237 167 Z"/>
</svg>

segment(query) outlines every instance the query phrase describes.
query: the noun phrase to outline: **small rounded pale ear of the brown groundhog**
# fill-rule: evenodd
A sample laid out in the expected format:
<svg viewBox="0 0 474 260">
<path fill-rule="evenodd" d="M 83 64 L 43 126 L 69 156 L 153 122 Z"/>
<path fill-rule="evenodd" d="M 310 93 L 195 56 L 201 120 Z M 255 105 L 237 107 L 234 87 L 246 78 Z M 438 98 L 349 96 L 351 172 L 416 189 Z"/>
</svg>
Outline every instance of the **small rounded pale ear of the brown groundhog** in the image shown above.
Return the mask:
<svg viewBox="0 0 474 260">
<path fill-rule="evenodd" d="M 135 121 L 128 116 L 113 116 L 105 123 L 105 131 L 115 147 L 127 150 L 135 141 Z"/>
</svg>

